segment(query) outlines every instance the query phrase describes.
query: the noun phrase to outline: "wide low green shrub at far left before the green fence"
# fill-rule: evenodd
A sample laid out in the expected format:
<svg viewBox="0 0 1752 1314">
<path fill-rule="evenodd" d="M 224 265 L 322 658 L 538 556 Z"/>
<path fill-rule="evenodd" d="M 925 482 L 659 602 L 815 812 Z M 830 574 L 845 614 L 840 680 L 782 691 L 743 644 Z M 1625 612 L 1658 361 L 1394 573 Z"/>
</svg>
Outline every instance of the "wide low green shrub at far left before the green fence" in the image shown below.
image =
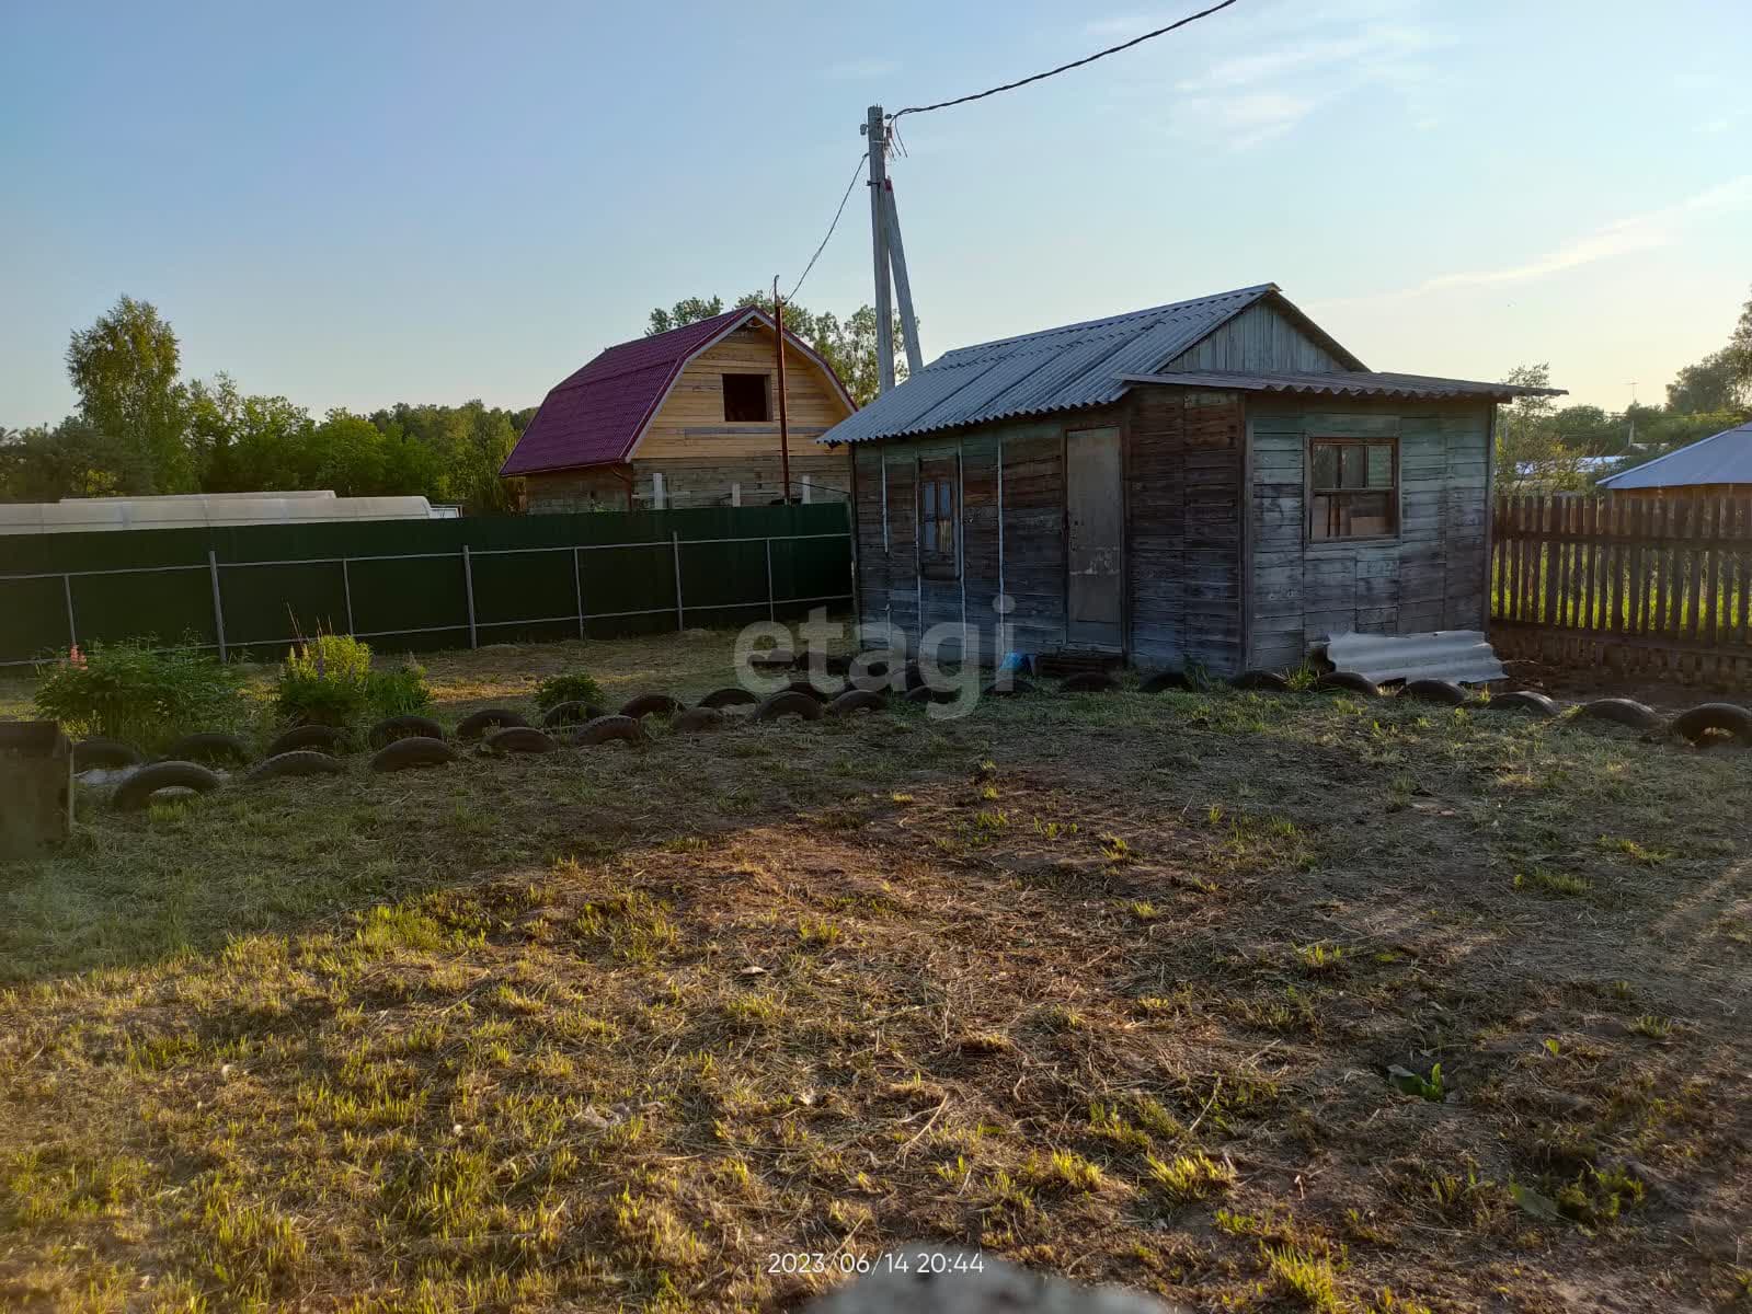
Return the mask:
<svg viewBox="0 0 1752 1314">
<path fill-rule="evenodd" d="M 93 643 L 39 668 L 37 710 L 70 736 L 123 739 L 145 752 L 249 717 L 244 678 L 201 652 L 154 652 L 154 639 Z"/>
</svg>

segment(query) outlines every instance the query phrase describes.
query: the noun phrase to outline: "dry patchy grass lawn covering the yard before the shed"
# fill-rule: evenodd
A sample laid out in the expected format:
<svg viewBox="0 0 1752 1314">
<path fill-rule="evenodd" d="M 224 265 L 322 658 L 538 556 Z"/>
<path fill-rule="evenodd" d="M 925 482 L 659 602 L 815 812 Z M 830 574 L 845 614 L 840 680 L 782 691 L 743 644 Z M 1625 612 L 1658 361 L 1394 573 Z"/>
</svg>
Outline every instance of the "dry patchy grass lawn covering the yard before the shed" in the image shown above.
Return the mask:
<svg viewBox="0 0 1752 1314">
<path fill-rule="evenodd" d="M 454 720 L 578 659 L 697 696 L 729 639 L 431 673 Z M 1198 1309 L 1752 1309 L 1748 794 L 1212 692 L 91 806 L 0 869 L 0 1307 L 755 1309 L 929 1239 Z"/>
</svg>

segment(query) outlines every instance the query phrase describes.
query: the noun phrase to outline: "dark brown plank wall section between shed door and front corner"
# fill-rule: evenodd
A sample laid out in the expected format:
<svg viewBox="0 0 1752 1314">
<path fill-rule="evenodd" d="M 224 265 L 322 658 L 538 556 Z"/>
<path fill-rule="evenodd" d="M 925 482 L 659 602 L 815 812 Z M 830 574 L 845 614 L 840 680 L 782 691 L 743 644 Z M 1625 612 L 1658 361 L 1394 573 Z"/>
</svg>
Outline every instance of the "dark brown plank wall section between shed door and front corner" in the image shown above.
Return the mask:
<svg viewBox="0 0 1752 1314">
<path fill-rule="evenodd" d="M 1127 424 L 1130 657 L 1146 669 L 1242 666 L 1242 401 L 1137 387 Z"/>
</svg>

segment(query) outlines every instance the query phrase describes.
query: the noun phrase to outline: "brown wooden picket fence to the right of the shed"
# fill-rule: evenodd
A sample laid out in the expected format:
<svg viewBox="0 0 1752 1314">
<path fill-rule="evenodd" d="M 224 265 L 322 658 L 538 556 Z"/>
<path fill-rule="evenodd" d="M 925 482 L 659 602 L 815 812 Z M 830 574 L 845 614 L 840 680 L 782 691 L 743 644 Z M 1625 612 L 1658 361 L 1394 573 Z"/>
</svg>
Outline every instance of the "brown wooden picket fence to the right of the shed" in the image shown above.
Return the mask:
<svg viewBox="0 0 1752 1314">
<path fill-rule="evenodd" d="M 1491 641 L 1503 657 L 1752 683 L 1752 498 L 1500 498 Z"/>
</svg>

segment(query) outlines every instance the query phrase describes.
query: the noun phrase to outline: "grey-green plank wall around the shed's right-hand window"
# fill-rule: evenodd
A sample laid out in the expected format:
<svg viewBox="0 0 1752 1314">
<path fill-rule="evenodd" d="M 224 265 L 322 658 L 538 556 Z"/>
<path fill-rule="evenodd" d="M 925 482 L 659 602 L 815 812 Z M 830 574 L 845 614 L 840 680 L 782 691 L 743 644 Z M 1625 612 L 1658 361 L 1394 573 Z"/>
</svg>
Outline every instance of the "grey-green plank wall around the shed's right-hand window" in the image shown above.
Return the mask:
<svg viewBox="0 0 1752 1314">
<path fill-rule="evenodd" d="M 1253 541 L 1247 666 L 1300 662 L 1346 631 L 1482 629 L 1489 403 L 1247 403 Z M 1307 540 L 1307 450 L 1318 436 L 1400 440 L 1400 533 Z"/>
</svg>

